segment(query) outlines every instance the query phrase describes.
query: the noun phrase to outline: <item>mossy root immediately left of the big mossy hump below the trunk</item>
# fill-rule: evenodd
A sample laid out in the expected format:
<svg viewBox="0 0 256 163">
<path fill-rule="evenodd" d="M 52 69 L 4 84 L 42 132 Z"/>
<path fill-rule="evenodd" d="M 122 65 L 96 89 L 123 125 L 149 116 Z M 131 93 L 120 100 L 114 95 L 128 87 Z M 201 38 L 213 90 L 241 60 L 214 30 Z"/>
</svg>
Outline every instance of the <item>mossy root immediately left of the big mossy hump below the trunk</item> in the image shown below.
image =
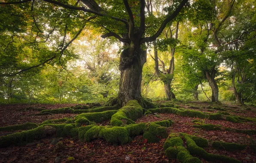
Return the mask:
<svg viewBox="0 0 256 163">
<path fill-rule="evenodd" d="M 114 115 L 116 112 L 117 110 L 109 110 L 109 111 L 95 112 L 95 113 L 82 113 L 76 116 L 76 121 L 79 118 L 87 118 L 89 121 L 100 123 L 103 121 L 110 120 L 112 115 Z"/>
</svg>

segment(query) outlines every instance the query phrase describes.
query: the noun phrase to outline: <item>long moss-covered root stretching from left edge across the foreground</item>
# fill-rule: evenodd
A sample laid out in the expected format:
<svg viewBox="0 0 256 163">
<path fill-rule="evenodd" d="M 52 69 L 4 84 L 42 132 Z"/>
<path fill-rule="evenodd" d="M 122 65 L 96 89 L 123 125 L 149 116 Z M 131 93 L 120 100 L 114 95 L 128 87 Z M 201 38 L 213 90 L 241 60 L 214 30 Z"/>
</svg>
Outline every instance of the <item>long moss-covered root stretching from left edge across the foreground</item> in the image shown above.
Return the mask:
<svg viewBox="0 0 256 163">
<path fill-rule="evenodd" d="M 125 127 L 103 127 L 88 125 L 77 128 L 75 124 L 43 124 L 35 129 L 13 133 L 0 137 L 0 147 L 9 145 L 22 145 L 37 139 L 43 139 L 48 136 L 70 136 L 79 137 L 86 142 L 95 138 L 103 138 L 112 144 L 122 145 L 130 142 L 131 137 L 144 133 L 144 137 L 149 142 L 157 142 L 158 139 L 168 136 L 167 127 L 170 127 L 172 121 L 159 121 L 152 123 L 131 124 Z"/>
</svg>

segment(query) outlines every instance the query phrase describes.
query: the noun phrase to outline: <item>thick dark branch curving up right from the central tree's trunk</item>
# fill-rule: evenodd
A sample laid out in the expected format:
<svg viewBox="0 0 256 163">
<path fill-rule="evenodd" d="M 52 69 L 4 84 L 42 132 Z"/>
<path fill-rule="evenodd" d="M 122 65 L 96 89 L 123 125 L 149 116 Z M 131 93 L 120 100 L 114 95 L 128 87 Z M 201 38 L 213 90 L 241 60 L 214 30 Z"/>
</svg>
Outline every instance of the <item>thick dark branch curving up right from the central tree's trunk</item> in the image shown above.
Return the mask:
<svg viewBox="0 0 256 163">
<path fill-rule="evenodd" d="M 143 44 L 145 42 L 152 42 L 154 41 L 158 36 L 160 36 L 160 34 L 162 33 L 162 31 L 165 29 L 166 24 L 168 24 L 170 21 L 172 21 L 180 12 L 180 10 L 183 8 L 183 6 L 185 6 L 185 4 L 188 2 L 188 0 L 182 0 L 182 2 L 180 3 L 180 5 L 177 7 L 177 9 L 175 9 L 175 11 L 169 16 L 167 17 L 161 27 L 158 29 L 158 31 L 151 37 L 145 37 L 142 38 L 140 40 L 140 43 Z"/>
</svg>

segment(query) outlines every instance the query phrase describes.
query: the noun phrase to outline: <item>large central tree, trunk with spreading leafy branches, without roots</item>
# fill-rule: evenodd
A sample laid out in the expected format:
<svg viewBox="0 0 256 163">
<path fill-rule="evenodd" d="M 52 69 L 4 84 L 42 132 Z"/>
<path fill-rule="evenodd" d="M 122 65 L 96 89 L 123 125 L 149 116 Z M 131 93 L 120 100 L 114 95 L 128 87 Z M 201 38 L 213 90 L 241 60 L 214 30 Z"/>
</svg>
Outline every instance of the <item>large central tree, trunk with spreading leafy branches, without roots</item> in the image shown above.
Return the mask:
<svg viewBox="0 0 256 163">
<path fill-rule="evenodd" d="M 43 42 L 37 39 L 40 36 L 41 38 L 44 37 L 45 42 L 47 42 L 49 36 L 55 34 L 49 28 L 52 31 L 59 29 L 60 33 L 63 33 L 63 39 L 60 41 L 62 42 L 60 43 L 61 45 L 57 45 L 58 48 L 55 53 L 51 51 L 51 56 L 48 59 L 34 66 L 15 69 L 17 72 L 2 74 L 2 76 L 16 75 L 27 69 L 39 67 L 56 58 L 61 58 L 68 45 L 85 28 L 85 24 L 90 23 L 94 27 L 100 28 L 99 30 L 103 33 L 103 38 L 113 36 L 120 42 L 123 42 L 124 46 L 120 55 L 119 65 L 121 71 L 118 95 L 119 103 L 124 106 L 128 100 L 136 99 L 141 101 L 140 86 L 142 68 L 146 62 L 146 49 L 143 48 L 143 45 L 146 42 L 154 41 L 165 29 L 165 26 L 179 14 L 187 1 L 175 1 L 172 5 L 173 7 L 169 8 L 165 17 L 155 18 L 155 21 L 152 21 L 152 17 L 148 16 L 145 12 L 145 0 L 140 0 L 139 2 L 133 0 L 99 0 L 97 2 L 94 0 L 8 0 L 1 2 L 1 11 L 6 13 L 5 17 L 7 19 L 8 17 L 15 17 L 17 19 L 11 20 L 11 23 L 18 22 L 15 25 L 16 28 L 12 28 L 12 33 L 17 33 L 17 31 L 25 33 L 20 30 L 21 26 L 24 27 L 23 30 L 27 30 L 26 27 L 30 21 L 33 22 L 33 25 L 30 26 L 33 26 L 33 29 L 37 30 L 37 36 L 35 36 L 34 42 Z M 26 12 L 28 9 L 30 11 Z M 17 14 L 18 12 L 21 12 L 21 14 Z M 30 20 L 27 20 L 27 17 Z M 3 18 L 1 21 L 6 20 Z M 8 32 L 13 25 L 8 21 L 6 22 L 9 26 L 7 25 L 2 30 Z M 158 29 L 151 36 L 147 36 L 152 26 Z M 147 27 L 149 28 L 147 29 Z M 45 31 L 48 31 L 47 35 L 44 34 Z M 67 41 L 68 36 L 72 36 L 72 34 L 73 39 L 70 38 L 70 41 Z M 26 35 L 23 35 L 23 38 L 25 37 Z M 19 39 L 22 39 L 22 37 L 19 37 Z"/>
</svg>

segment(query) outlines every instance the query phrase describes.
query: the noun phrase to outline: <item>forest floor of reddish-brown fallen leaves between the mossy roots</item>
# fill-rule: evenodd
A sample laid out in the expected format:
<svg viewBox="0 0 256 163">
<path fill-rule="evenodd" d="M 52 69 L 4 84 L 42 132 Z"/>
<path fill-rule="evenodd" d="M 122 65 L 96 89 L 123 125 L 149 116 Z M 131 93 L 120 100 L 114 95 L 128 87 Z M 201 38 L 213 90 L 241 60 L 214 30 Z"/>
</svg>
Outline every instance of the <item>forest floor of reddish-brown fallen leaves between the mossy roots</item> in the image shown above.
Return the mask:
<svg viewBox="0 0 256 163">
<path fill-rule="evenodd" d="M 49 119 L 58 118 L 74 118 L 77 114 L 52 114 L 52 115 L 34 115 L 40 113 L 37 110 L 27 109 L 43 108 L 43 109 L 58 109 L 66 106 L 75 106 L 76 104 L 35 104 L 35 105 L 4 105 L 0 106 L 0 127 L 9 125 L 24 124 L 27 122 L 42 123 Z M 210 103 L 190 102 L 179 103 L 183 109 L 193 109 L 200 112 L 215 113 L 218 110 L 207 109 L 210 108 Z M 216 106 L 216 104 L 214 104 Z M 233 106 L 219 104 L 222 108 L 228 109 L 231 115 L 241 117 L 256 118 L 256 108 L 253 106 Z M 213 108 L 213 107 L 211 107 Z M 247 108 L 247 109 L 246 109 Z M 136 123 L 154 122 L 171 119 L 174 124 L 168 128 L 171 133 L 188 133 L 194 136 L 204 137 L 209 140 L 218 140 L 222 142 L 233 142 L 238 144 L 252 144 L 256 143 L 256 135 L 249 136 L 244 133 L 233 133 L 229 131 L 213 130 L 207 131 L 193 127 L 193 120 L 197 119 L 203 124 L 219 124 L 224 127 L 242 129 L 242 130 L 256 130 L 256 124 L 253 122 L 247 123 L 232 123 L 224 120 L 209 120 L 202 118 L 182 117 L 175 114 L 154 114 L 143 115 L 137 119 Z M 110 125 L 110 121 L 104 121 L 97 125 Z M 20 132 L 20 131 L 15 131 Z M 0 136 L 4 136 L 14 132 L 0 132 Z M 51 145 L 53 141 L 61 141 L 64 147 L 56 150 L 56 145 Z M 25 146 L 10 146 L 7 148 L 0 148 L 0 163 L 54 163 L 54 162 L 87 162 L 87 163 L 113 163 L 113 162 L 129 162 L 129 163 L 178 163 L 179 160 L 168 159 L 165 156 L 163 144 L 165 139 L 158 143 L 147 143 L 142 136 L 136 136 L 132 142 L 115 146 L 107 143 L 104 139 L 95 139 L 91 142 L 81 142 L 79 139 L 73 138 L 48 138 L 37 140 L 32 143 L 27 143 Z M 255 163 L 256 154 L 250 149 L 246 148 L 242 151 L 226 151 L 216 150 L 214 148 L 204 148 L 210 154 L 221 154 L 228 157 L 240 160 L 242 163 Z M 74 157 L 75 160 L 67 160 L 68 157 Z M 201 159 L 203 163 L 206 160 Z"/>
</svg>

